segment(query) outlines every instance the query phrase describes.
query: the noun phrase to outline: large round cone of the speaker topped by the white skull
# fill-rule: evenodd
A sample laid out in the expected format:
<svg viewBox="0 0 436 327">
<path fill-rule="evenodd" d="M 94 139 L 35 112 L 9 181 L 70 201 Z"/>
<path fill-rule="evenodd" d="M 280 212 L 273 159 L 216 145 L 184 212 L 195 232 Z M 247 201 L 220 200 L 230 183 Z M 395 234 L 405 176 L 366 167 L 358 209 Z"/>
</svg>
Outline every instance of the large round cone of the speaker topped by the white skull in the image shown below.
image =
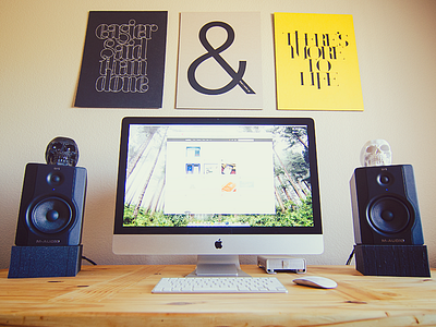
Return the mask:
<svg viewBox="0 0 436 327">
<path fill-rule="evenodd" d="M 385 233 L 398 233 L 411 220 L 408 206 L 396 197 L 385 196 L 376 199 L 368 208 L 370 223 Z"/>
</svg>

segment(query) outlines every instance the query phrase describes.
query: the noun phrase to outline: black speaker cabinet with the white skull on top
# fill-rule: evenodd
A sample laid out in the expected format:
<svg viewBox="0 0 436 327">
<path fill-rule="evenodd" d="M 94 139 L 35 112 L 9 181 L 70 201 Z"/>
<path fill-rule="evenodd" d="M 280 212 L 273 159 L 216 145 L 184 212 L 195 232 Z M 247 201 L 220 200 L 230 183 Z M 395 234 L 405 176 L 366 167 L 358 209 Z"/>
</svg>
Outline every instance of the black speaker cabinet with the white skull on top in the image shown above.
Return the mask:
<svg viewBox="0 0 436 327">
<path fill-rule="evenodd" d="M 350 189 L 356 244 L 424 244 L 411 165 L 356 168 Z"/>
</svg>

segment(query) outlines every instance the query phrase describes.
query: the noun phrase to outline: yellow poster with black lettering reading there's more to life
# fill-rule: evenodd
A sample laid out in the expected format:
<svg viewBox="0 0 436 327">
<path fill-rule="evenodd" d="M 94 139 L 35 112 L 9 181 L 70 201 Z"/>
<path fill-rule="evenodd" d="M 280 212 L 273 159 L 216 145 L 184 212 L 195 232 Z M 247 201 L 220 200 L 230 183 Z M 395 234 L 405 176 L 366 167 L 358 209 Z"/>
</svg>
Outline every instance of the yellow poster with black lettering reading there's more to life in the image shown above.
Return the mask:
<svg viewBox="0 0 436 327">
<path fill-rule="evenodd" d="M 363 110 L 352 15 L 275 13 L 277 108 Z"/>
</svg>

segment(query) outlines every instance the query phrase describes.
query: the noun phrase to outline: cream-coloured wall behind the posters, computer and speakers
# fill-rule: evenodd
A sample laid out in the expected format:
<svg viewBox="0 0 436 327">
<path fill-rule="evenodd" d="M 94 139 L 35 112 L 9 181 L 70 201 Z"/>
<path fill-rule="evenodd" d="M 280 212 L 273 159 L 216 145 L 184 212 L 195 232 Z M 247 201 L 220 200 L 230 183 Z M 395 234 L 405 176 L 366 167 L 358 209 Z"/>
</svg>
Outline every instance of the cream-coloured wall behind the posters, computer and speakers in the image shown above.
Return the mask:
<svg viewBox="0 0 436 327">
<path fill-rule="evenodd" d="M 124 116 L 255 116 L 315 119 L 325 252 L 310 264 L 341 265 L 352 245 L 349 179 L 371 138 L 392 146 L 395 164 L 412 164 L 425 243 L 436 267 L 436 1 L 434 0 L 0 0 L 0 268 L 14 244 L 24 168 L 45 162 L 58 135 L 80 146 L 88 170 L 84 254 L 98 264 L 193 263 L 193 257 L 116 256 L 111 250 L 120 121 Z M 73 108 L 87 14 L 92 10 L 167 10 L 162 109 Z M 179 13 L 258 11 L 262 14 L 264 110 L 174 109 Z M 276 110 L 274 12 L 352 14 L 363 112 Z M 245 257 L 254 263 L 254 258 Z"/>
</svg>

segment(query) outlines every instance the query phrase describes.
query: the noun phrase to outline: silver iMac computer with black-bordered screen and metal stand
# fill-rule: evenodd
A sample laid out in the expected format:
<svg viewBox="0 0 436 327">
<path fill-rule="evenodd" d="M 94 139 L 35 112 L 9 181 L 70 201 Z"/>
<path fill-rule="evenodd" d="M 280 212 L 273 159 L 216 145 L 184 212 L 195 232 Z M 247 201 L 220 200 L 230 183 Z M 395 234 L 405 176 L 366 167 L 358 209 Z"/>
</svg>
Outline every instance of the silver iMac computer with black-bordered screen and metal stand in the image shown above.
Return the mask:
<svg viewBox="0 0 436 327">
<path fill-rule="evenodd" d="M 243 276 L 239 255 L 323 252 L 314 121 L 128 117 L 112 250 L 197 255 L 193 276 Z"/>
</svg>

